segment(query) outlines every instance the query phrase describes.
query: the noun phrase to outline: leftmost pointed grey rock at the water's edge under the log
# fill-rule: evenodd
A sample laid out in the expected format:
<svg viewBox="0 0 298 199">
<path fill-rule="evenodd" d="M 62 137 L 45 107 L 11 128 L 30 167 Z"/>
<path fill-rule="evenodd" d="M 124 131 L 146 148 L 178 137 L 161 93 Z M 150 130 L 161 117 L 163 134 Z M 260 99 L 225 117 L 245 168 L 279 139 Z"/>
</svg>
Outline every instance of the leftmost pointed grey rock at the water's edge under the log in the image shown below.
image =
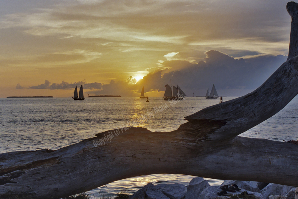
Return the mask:
<svg viewBox="0 0 298 199">
<path fill-rule="evenodd" d="M 142 189 L 135 192 L 129 199 L 170 199 L 159 191 L 152 183 L 146 184 Z"/>
</svg>

